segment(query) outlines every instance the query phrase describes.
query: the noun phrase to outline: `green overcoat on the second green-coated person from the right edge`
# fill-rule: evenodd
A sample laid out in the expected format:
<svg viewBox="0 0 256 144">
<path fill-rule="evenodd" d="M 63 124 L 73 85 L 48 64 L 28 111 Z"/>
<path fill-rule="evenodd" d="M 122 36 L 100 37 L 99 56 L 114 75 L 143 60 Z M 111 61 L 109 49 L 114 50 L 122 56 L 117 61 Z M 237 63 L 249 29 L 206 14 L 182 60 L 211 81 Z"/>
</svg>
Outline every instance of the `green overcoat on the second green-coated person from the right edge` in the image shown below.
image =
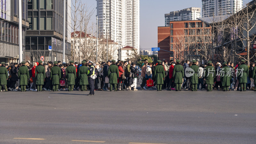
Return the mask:
<svg viewBox="0 0 256 144">
<path fill-rule="evenodd" d="M 247 83 L 247 77 L 249 76 L 248 66 L 245 63 L 242 63 L 238 66 L 237 71 L 239 83 Z"/>
</svg>

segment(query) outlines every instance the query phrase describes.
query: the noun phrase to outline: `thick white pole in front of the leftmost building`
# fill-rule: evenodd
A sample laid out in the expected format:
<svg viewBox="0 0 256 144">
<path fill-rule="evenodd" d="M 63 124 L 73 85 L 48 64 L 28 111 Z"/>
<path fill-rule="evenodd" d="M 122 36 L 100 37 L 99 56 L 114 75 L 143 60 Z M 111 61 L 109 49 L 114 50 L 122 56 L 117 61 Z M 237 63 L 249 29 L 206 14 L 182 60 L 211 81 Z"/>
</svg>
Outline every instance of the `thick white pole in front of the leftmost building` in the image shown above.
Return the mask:
<svg viewBox="0 0 256 144">
<path fill-rule="evenodd" d="M 23 61 L 22 55 L 22 6 L 19 0 L 19 62 Z"/>
</svg>

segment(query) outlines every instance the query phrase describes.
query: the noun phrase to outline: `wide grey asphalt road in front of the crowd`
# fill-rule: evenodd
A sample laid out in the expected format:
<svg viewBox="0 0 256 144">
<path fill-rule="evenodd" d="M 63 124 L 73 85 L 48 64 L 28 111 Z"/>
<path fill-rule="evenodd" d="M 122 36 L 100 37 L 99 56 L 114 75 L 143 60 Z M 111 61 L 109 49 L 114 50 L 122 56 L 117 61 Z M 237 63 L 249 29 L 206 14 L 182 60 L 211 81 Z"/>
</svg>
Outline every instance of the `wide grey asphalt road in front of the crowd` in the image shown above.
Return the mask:
<svg viewBox="0 0 256 144">
<path fill-rule="evenodd" d="M 0 143 L 256 143 L 256 92 L 87 93 L 0 92 Z"/>
</svg>

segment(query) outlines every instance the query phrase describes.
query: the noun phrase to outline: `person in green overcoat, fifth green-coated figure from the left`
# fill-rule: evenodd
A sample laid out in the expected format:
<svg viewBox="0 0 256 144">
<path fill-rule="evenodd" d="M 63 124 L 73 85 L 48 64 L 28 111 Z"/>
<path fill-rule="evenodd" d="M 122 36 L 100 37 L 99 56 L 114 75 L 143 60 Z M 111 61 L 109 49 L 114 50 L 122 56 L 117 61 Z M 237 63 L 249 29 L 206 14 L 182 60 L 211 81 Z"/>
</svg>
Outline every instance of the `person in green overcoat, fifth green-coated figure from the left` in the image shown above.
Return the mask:
<svg viewBox="0 0 256 144">
<path fill-rule="evenodd" d="M 68 84 L 68 91 L 73 91 L 76 79 L 76 67 L 74 67 L 74 61 L 69 61 L 69 66 L 66 68 L 66 78 Z"/>
</svg>

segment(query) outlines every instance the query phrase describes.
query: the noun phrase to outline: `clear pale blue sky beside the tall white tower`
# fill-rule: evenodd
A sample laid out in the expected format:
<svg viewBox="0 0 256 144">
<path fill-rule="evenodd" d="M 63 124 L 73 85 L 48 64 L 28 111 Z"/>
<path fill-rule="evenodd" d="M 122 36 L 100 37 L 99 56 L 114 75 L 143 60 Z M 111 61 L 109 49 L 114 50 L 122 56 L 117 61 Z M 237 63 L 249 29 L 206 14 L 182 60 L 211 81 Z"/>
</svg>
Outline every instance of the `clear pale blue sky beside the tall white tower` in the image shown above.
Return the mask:
<svg viewBox="0 0 256 144">
<path fill-rule="evenodd" d="M 96 8 L 96 0 L 83 0 Z M 140 0 L 140 46 L 142 50 L 157 47 L 157 27 L 164 26 L 164 14 L 189 7 L 202 8 L 202 0 Z M 96 23 L 95 11 L 94 18 Z"/>
</svg>

